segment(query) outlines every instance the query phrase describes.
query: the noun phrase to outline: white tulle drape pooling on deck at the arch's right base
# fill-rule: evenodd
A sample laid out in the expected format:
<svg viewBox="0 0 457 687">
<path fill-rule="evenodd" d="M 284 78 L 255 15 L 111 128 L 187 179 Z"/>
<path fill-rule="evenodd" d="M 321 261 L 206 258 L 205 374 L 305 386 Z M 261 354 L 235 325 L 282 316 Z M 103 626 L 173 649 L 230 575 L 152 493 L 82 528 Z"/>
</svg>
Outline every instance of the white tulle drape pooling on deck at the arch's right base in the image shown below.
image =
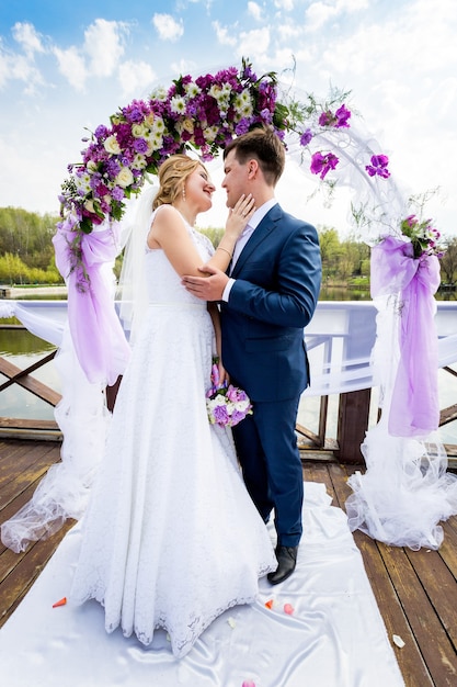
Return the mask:
<svg viewBox="0 0 457 687">
<path fill-rule="evenodd" d="M 436 431 L 422 437 L 389 432 L 400 360 L 397 333 L 401 313 L 398 299 L 380 296 L 375 303 L 378 317 L 373 359 L 380 386 L 381 418 L 367 431 L 361 447 L 365 474 L 357 472 L 349 480 L 354 492 L 346 500 L 349 525 L 351 530 L 359 529 L 390 545 L 435 550 L 444 537 L 439 521 L 457 514 L 457 475 L 447 472 L 446 451 Z M 455 335 L 443 339 L 442 359 L 455 361 L 456 344 Z M 454 354 L 448 347 L 454 348 Z M 442 359 L 439 363 L 447 364 Z"/>
</svg>

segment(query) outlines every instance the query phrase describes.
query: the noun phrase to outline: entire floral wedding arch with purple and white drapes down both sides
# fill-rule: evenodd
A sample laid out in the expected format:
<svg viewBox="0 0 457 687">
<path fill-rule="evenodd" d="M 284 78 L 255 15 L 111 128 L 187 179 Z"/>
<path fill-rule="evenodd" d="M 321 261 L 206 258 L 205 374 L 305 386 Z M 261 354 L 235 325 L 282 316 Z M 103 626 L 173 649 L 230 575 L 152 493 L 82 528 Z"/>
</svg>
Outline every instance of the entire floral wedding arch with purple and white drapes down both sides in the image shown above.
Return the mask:
<svg viewBox="0 0 457 687">
<path fill-rule="evenodd" d="M 83 513 L 94 470 L 88 457 L 99 460 L 102 447 L 90 425 L 100 412 L 100 387 L 116 381 L 129 356 L 103 275 L 119 252 L 128 199 L 167 156 L 193 151 L 210 160 L 233 136 L 256 125 L 272 126 L 304 173 L 330 196 L 339 185 L 352 190 L 352 218 L 373 246 L 372 295 L 379 312 L 373 357 L 382 415 L 362 446 L 368 470 L 351 478 L 351 528 L 390 544 L 439 547 L 437 522 L 457 513 L 457 482 L 449 482 L 446 454 L 434 436 L 439 416 L 434 325 L 439 234 L 430 219 L 411 212 L 388 157 L 349 109 L 347 93 L 332 92 L 324 102 L 312 94 L 296 99 L 281 88 L 275 72 L 258 77 L 243 60 L 240 69 L 181 76 L 149 99 L 134 100 L 110 117 L 110 126 L 95 128 L 85 139 L 81 162 L 69 166 L 54 244 L 68 284 L 71 346 L 85 380 L 81 387 L 88 394 L 95 388 L 95 409 L 88 410 L 84 395 L 73 403 L 85 413 L 84 437 L 72 402 L 60 409 L 66 460 L 58 489 L 53 482 L 57 473 L 47 475 L 49 484 L 41 485 L 36 499 L 2 526 L 3 540 L 16 542 L 16 550 L 23 538 L 42 536 L 44 521 Z M 94 446 L 88 447 L 91 440 Z"/>
</svg>

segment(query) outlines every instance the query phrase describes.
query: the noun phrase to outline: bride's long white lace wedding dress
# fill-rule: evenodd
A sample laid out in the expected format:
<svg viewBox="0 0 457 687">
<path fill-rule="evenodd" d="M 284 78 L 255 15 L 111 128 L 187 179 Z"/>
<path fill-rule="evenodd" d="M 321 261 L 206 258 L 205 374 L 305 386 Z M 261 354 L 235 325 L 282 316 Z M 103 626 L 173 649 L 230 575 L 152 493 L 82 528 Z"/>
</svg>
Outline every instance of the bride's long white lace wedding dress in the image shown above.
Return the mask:
<svg viewBox="0 0 457 687">
<path fill-rule="evenodd" d="M 210 241 L 187 230 L 206 261 Z M 69 600 L 96 599 L 107 632 L 121 626 L 146 645 L 164 630 L 181 657 L 226 609 L 252 602 L 277 563 L 231 437 L 207 419 L 206 303 L 185 291 L 162 250 L 147 249 L 145 261 L 149 306 L 83 517 Z"/>
</svg>

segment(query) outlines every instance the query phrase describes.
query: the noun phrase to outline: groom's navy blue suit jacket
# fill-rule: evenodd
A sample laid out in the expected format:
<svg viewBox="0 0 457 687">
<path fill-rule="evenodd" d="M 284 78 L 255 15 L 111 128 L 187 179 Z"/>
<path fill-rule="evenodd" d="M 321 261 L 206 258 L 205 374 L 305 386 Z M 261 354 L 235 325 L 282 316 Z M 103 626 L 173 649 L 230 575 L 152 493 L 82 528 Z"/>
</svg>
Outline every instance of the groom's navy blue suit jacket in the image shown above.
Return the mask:
<svg viewBox="0 0 457 687">
<path fill-rule="evenodd" d="M 253 401 L 298 396 L 309 384 L 304 327 L 321 282 L 313 226 L 274 205 L 241 251 L 221 303 L 222 361 Z"/>
</svg>

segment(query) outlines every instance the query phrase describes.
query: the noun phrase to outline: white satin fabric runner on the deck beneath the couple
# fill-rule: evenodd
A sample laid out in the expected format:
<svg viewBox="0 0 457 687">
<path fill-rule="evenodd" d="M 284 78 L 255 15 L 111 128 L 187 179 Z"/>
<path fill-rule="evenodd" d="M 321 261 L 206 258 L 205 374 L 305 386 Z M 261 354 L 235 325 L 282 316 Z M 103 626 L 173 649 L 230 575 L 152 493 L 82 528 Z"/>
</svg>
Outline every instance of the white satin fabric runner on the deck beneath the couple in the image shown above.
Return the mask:
<svg viewBox="0 0 457 687">
<path fill-rule="evenodd" d="M 181 661 L 164 633 L 149 649 L 118 630 L 106 634 L 95 601 L 53 608 L 70 590 L 77 525 L 0 630 L 9 687 L 403 685 L 345 514 L 331 506 L 323 484 L 306 483 L 305 494 L 295 574 L 276 587 L 262 579 L 258 601 L 226 611 Z"/>
</svg>

